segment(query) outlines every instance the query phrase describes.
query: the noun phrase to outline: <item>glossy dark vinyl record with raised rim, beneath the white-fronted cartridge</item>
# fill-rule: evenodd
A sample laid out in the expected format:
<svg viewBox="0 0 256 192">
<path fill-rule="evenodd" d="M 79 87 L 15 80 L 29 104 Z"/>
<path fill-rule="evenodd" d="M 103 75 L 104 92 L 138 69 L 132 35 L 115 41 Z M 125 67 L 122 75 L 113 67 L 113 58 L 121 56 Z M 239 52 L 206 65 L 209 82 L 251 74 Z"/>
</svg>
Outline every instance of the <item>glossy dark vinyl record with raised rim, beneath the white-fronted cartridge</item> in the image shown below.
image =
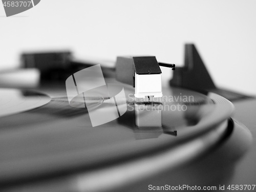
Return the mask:
<svg viewBox="0 0 256 192">
<path fill-rule="evenodd" d="M 199 145 L 201 150 L 197 148 L 203 153 L 224 137 L 227 119 L 233 111 L 231 102 L 217 94 L 168 88 L 163 94 L 173 98 L 167 97 L 162 103 L 173 109 L 161 110 L 162 126 L 138 127 L 135 103 L 128 99 L 133 89 L 125 86 L 124 89 L 130 108 L 120 118 L 96 127 L 92 127 L 87 110 L 72 108 L 64 95 L 52 98 L 40 108 L 0 118 L 0 179 L 8 181 L 99 167 L 175 148 L 214 133 L 214 139 L 204 140 L 206 143 Z M 193 99 L 177 100 L 178 96 L 193 96 Z M 186 110 L 178 111 L 178 104 Z M 179 160 L 176 158 L 173 163 Z"/>
</svg>

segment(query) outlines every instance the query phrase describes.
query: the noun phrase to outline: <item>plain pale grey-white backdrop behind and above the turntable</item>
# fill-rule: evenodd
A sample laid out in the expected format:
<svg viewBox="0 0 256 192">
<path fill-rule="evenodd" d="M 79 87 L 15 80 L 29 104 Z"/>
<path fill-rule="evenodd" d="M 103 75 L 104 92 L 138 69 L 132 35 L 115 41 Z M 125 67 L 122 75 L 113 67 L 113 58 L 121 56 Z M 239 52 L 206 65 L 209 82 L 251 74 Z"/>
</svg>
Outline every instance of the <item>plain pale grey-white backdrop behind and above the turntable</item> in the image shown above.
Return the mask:
<svg viewBox="0 0 256 192">
<path fill-rule="evenodd" d="M 183 65 L 193 42 L 217 86 L 256 94 L 256 1 L 41 0 L 6 17 L 0 6 L 0 70 L 29 51 L 71 50 L 79 59 L 155 55 Z M 172 71 L 162 69 L 167 82 Z M 200 75 L 200 74 L 199 74 Z"/>
</svg>

